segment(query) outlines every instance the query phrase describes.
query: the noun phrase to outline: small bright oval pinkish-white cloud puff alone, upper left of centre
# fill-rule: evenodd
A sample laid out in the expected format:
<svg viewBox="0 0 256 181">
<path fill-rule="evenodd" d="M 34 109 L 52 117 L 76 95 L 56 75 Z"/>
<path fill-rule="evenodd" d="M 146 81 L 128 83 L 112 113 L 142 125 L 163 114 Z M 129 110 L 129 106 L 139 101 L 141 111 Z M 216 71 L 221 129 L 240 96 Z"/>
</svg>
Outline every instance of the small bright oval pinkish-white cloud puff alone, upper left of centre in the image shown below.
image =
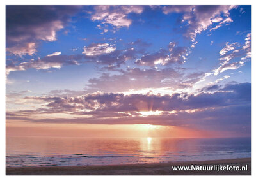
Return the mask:
<svg viewBox="0 0 256 181">
<path fill-rule="evenodd" d="M 83 54 L 87 56 L 95 56 L 101 54 L 109 54 L 115 50 L 116 46 L 109 43 L 92 43 L 88 47 L 84 46 Z"/>
</svg>

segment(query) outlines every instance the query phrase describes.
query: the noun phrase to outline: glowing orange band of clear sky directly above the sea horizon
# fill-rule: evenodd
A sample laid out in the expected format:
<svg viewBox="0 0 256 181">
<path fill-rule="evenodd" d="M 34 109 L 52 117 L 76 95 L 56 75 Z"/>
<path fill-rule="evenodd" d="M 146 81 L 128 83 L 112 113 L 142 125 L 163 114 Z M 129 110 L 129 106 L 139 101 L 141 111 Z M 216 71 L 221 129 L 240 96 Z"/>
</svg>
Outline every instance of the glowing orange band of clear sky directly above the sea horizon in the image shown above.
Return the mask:
<svg viewBox="0 0 256 181">
<path fill-rule="evenodd" d="M 232 134 L 151 124 L 6 122 L 6 136 L 209 138 L 232 137 Z"/>
</svg>

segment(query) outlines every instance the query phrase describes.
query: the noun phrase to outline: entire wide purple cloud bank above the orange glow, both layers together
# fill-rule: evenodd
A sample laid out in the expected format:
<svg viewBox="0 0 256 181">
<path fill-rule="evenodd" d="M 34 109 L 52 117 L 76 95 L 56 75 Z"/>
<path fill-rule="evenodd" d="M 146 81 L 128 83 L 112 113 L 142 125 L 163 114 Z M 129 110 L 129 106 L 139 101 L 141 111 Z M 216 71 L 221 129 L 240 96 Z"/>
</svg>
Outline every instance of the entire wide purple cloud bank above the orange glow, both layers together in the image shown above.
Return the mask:
<svg viewBox="0 0 256 181">
<path fill-rule="evenodd" d="M 250 133 L 251 84 L 236 83 L 205 89 L 200 94 L 130 94 L 95 92 L 81 96 L 26 96 L 41 101 L 42 108 L 6 112 L 6 119 L 29 122 L 74 122 L 90 124 L 160 124 L 203 130 Z M 204 89 L 204 90 L 205 90 Z M 145 116 L 140 112 L 158 111 Z M 44 114 L 65 113 L 72 119 L 44 118 Z M 36 115 L 38 119 L 36 119 Z M 246 128 L 247 127 L 247 128 Z"/>
</svg>

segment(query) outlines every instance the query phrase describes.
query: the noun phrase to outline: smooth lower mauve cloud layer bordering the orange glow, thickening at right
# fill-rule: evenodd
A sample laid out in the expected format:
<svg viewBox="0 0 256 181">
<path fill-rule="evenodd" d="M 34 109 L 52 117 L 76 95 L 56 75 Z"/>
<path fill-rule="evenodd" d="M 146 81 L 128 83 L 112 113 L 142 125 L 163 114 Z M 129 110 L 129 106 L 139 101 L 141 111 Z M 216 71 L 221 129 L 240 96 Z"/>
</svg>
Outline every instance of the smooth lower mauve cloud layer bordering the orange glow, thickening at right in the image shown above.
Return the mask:
<svg viewBox="0 0 256 181">
<path fill-rule="evenodd" d="M 162 113 L 139 117 L 138 114 L 117 112 L 91 112 L 93 117 L 74 117 L 72 119 L 34 119 L 20 117 L 20 114 L 6 113 L 6 119 L 26 120 L 28 122 L 44 123 L 88 123 L 88 124 L 156 124 L 179 126 L 204 131 L 232 132 L 236 136 L 250 136 L 251 110 L 250 106 L 225 106 L 196 112 L 180 111 L 177 113 Z"/>
</svg>

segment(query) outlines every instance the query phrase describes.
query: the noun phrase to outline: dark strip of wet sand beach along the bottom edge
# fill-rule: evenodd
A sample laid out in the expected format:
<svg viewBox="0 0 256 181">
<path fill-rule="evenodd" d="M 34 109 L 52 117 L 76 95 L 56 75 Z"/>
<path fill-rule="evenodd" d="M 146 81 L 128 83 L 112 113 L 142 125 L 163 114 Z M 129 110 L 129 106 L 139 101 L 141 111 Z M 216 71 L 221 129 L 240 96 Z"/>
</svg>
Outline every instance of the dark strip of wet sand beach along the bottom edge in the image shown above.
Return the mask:
<svg viewBox="0 0 256 181">
<path fill-rule="evenodd" d="M 247 171 L 173 171 L 172 166 L 245 166 Z M 6 175 L 251 175 L 251 158 L 97 166 L 45 166 L 6 168 Z"/>
</svg>

